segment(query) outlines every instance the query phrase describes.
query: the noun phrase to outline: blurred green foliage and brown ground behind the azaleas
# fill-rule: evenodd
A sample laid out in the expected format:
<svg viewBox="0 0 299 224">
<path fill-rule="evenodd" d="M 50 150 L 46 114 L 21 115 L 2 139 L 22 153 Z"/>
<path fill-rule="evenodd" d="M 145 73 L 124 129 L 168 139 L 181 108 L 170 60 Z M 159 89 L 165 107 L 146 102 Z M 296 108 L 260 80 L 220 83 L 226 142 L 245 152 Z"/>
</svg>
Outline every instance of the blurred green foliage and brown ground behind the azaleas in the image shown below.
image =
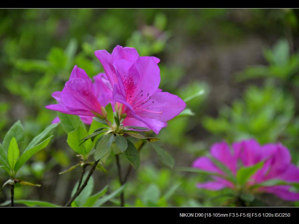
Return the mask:
<svg viewBox="0 0 299 224">
<path fill-rule="evenodd" d="M 45 105 L 55 103 L 51 93 L 63 88 L 73 65 L 93 77 L 103 71 L 94 51 L 122 45 L 161 59 L 164 91 L 182 99 L 204 91 L 187 102 L 189 116 L 168 122 L 158 135 L 175 167 L 191 166 L 217 141 L 244 138 L 280 141 L 299 165 L 298 22 L 299 11 L 292 9 L 1 9 L 0 139 L 20 119 L 26 146 L 57 116 Z M 54 136 L 18 174 L 42 187 L 16 188 L 15 199 L 63 205 L 70 198 L 81 171 L 58 173 L 79 159 L 60 126 Z M 92 192 L 119 187 L 115 158 L 104 166 L 108 174 L 94 174 Z M 8 178 L 0 170 L 0 184 Z M 126 204 L 228 205 L 225 190 L 196 188 L 206 179 L 168 168 L 147 145 L 140 168 L 129 176 Z M 8 199 L 7 187 L 0 202 Z M 267 194 L 256 199 L 257 206 L 299 206 Z M 118 204 L 115 198 L 104 206 Z"/>
</svg>

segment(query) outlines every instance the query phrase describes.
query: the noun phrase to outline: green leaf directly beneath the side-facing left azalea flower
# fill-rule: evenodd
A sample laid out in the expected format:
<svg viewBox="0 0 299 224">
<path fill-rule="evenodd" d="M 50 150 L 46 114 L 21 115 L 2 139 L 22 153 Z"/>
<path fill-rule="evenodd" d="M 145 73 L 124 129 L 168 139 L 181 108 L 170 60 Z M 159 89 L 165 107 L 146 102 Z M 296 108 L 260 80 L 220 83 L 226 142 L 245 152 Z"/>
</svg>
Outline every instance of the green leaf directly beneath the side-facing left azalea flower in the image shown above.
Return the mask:
<svg viewBox="0 0 299 224">
<path fill-rule="evenodd" d="M 60 119 L 60 124 L 67 134 L 69 132 L 76 130 L 79 126 L 85 128 L 79 116 L 71 115 L 71 114 L 63 114 L 60 112 L 57 112 L 57 114 Z"/>
</svg>

